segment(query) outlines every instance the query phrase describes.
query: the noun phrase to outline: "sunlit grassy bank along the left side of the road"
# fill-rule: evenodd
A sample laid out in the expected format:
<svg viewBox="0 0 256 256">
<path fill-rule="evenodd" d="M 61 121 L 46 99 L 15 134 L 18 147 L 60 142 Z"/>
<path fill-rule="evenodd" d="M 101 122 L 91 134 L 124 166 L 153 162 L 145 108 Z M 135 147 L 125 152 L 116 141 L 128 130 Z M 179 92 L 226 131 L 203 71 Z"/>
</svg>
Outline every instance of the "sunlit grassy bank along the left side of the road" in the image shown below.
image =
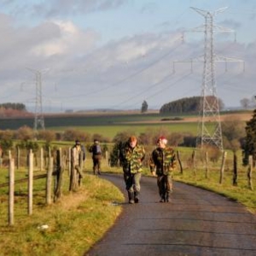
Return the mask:
<svg viewBox="0 0 256 256">
<path fill-rule="evenodd" d="M 63 191 L 61 201 L 44 205 L 44 182 L 35 184 L 32 216 L 26 213 L 26 185 L 15 193 L 15 224 L 8 226 L 8 191 L 1 189 L 1 255 L 83 255 L 122 211 L 119 189 L 85 174 L 79 191 Z M 6 189 L 5 189 L 6 190 Z"/>
</svg>

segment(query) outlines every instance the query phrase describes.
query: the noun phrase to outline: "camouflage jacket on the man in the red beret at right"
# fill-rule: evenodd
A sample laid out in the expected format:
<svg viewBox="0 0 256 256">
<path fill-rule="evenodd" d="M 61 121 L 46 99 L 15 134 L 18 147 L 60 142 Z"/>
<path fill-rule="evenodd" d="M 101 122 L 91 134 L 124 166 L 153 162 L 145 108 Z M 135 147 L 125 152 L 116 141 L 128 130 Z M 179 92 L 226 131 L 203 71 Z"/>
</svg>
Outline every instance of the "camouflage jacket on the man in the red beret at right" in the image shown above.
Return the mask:
<svg viewBox="0 0 256 256">
<path fill-rule="evenodd" d="M 155 168 L 156 175 L 172 174 L 176 164 L 176 156 L 172 148 L 155 148 L 153 150 L 150 157 L 150 169 L 154 170 Z"/>
</svg>

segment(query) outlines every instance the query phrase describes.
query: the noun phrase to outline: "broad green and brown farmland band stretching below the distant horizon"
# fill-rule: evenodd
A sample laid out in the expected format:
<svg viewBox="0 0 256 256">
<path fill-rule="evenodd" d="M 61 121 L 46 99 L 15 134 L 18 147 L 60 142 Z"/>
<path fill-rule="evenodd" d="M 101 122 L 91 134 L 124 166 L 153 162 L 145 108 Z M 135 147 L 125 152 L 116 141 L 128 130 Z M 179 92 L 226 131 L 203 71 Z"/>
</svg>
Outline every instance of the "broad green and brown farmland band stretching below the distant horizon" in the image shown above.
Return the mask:
<svg viewBox="0 0 256 256">
<path fill-rule="evenodd" d="M 252 118 L 253 111 L 221 114 L 221 120 L 239 119 L 243 122 Z M 114 137 L 117 132 L 166 129 L 171 132 L 189 132 L 196 135 L 198 117 L 196 115 L 160 115 L 159 113 L 59 113 L 44 116 L 46 129 L 65 131 L 79 129 L 90 134 L 99 133 L 104 137 Z M 33 127 L 32 118 L 0 119 L 1 130 L 17 130 L 21 126 Z"/>
</svg>

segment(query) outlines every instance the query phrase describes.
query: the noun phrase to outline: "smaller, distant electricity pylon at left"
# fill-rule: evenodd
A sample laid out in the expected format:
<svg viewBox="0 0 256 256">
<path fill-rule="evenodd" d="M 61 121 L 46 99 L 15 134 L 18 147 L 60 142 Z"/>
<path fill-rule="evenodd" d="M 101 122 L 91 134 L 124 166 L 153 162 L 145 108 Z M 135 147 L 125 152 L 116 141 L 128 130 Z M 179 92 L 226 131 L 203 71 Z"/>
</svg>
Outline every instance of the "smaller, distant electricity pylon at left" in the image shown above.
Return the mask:
<svg viewBox="0 0 256 256">
<path fill-rule="evenodd" d="M 34 118 L 34 131 L 38 131 L 38 125 L 44 130 L 44 113 L 42 104 L 42 73 L 38 70 L 27 68 L 36 75 L 36 106 Z"/>
</svg>

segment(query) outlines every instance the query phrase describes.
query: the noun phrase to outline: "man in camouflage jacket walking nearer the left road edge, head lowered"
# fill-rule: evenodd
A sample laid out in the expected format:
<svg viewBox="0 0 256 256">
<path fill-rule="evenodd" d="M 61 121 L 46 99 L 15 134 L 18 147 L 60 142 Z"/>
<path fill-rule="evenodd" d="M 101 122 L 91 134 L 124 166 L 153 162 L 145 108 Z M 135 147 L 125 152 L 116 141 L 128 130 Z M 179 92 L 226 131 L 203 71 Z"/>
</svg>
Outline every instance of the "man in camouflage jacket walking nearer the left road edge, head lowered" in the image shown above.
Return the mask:
<svg viewBox="0 0 256 256">
<path fill-rule="evenodd" d="M 120 152 L 120 162 L 123 166 L 125 189 L 128 192 L 129 203 L 138 203 L 140 193 L 140 180 L 143 171 L 145 150 L 137 144 L 137 138 L 131 136 Z"/>
</svg>

